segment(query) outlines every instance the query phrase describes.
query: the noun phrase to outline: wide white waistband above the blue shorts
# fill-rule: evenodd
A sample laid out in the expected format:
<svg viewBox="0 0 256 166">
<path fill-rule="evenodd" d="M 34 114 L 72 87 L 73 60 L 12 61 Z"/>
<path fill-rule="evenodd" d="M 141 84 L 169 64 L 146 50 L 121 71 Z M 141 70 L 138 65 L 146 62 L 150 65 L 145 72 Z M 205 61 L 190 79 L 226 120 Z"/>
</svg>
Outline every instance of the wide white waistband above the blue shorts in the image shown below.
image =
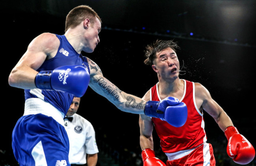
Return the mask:
<svg viewBox="0 0 256 166">
<path fill-rule="evenodd" d="M 44 114 L 55 119 L 59 124 L 64 126 L 64 114 L 50 103 L 39 98 L 30 98 L 25 101 L 24 115 Z M 24 116 L 23 115 L 23 116 Z"/>
</svg>

